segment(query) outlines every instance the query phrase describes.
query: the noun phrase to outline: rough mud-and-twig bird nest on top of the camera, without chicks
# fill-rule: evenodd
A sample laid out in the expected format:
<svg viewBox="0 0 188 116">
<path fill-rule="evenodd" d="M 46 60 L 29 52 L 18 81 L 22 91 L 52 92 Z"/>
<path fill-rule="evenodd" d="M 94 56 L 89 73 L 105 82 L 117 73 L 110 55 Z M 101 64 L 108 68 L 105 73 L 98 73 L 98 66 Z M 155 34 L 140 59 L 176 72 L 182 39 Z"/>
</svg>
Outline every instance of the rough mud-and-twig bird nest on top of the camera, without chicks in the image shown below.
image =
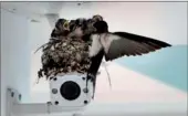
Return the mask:
<svg viewBox="0 0 188 116">
<path fill-rule="evenodd" d="M 71 72 L 86 73 L 91 64 L 88 46 L 88 42 L 77 39 L 51 39 L 43 46 L 42 68 L 38 76 L 49 77 Z"/>
</svg>

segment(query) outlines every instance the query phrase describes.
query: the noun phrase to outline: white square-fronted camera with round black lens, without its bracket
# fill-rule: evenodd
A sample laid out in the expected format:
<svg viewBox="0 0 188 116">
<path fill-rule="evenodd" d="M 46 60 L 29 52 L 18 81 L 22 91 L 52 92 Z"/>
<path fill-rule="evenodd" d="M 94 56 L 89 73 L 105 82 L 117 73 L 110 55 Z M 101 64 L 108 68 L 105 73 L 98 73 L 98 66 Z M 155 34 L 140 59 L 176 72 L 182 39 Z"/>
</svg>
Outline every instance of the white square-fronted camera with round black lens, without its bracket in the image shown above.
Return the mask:
<svg viewBox="0 0 188 116">
<path fill-rule="evenodd" d="M 56 75 L 50 81 L 51 103 L 60 107 L 84 107 L 91 103 L 93 84 L 88 82 L 86 89 L 86 74 Z"/>
</svg>

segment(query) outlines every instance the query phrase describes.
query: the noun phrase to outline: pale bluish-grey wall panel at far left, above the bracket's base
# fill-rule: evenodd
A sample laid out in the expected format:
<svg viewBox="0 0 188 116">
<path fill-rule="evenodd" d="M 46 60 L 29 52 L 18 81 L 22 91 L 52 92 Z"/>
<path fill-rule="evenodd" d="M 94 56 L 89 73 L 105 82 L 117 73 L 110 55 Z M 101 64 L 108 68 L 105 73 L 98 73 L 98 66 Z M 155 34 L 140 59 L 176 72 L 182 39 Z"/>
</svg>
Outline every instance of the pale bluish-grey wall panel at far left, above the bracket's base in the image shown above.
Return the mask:
<svg viewBox="0 0 188 116">
<path fill-rule="evenodd" d="M 17 88 L 22 102 L 30 95 L 29 20 L 1 9 L 1 116 L 4 116 L 6 89 Z"/>
</svg>

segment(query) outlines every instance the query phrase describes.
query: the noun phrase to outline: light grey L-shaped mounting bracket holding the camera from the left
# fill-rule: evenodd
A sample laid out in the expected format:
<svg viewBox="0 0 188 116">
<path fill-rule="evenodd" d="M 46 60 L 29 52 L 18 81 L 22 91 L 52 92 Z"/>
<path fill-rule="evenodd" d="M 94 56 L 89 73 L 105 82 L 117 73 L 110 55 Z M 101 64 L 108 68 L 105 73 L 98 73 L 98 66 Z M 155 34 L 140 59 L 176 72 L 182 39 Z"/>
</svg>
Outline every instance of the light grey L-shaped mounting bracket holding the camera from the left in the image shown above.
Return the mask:
<svg viewBox="0 0 188 116">
<path fill-rule="evenodd" d="M 53 115 L 53 113 L 72 113 L 73 116 L 81 116 L 82 107 L 60 107 L 52 105 L 51 102 L 45 103 L 21 103 L 21 94 L 13 88 L 7 89 L 6 116 L 27 116 L 27 115 Z"/>
</svg>

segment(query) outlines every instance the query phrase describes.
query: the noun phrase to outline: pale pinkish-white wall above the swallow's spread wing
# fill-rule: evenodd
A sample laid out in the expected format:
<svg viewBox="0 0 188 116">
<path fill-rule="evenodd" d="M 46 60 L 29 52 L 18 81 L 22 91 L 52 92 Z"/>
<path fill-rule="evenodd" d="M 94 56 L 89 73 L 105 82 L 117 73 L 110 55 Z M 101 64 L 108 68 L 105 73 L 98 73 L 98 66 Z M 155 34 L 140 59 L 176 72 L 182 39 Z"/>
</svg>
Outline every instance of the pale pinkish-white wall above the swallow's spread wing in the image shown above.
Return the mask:
<svg viewBox="0 0 188 116">
<path fill-rule="evenodd" d="M 101 14 L 109 31 L 125 31 L 169 42 L 187 44 L 185 2 L 87 2 L 77 7 L 65 2 L 60 15 L 66 19 Z"/>
</svg>

